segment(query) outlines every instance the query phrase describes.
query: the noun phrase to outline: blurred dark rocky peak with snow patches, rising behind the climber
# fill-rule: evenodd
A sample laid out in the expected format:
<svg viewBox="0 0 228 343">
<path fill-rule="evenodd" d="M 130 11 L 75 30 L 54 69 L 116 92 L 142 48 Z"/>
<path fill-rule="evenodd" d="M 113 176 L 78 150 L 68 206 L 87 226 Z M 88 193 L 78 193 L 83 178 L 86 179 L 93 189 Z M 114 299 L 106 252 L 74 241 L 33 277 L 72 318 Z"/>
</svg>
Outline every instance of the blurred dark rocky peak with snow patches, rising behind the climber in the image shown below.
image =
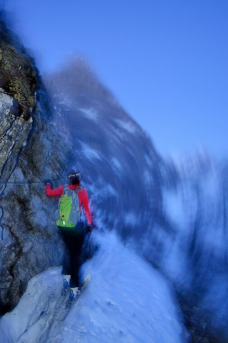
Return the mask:
<svg viewBox="0 0 228 343">
<path fill-rule="evenodd" d="M 162 159 L 151 139 L 79 58 L 46 80 L 56 125 L 73 143 L 99 227 L 140 240 L 162 213 Z M 127 233 L 127 235 L 126 235 Z"/>
</svg>

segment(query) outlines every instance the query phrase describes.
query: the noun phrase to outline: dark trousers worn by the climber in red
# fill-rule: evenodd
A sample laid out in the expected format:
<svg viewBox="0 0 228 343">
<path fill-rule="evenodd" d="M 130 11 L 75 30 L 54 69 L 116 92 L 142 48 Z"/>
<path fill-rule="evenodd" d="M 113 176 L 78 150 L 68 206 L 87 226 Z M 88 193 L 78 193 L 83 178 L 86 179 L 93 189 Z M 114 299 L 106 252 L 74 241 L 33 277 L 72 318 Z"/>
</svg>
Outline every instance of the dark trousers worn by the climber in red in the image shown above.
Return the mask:
<svg viewBox="0 0 228 343">
<path fill-rule="evenodd" d="M 83 264 L 84 224 L 79 222 L 74 229 L 60 228 L 59 231 L 64 241 L 62 274 L 71 275 L 70 287 L 79 287 L 82 284 L 79 269 Z"/>
</svg>

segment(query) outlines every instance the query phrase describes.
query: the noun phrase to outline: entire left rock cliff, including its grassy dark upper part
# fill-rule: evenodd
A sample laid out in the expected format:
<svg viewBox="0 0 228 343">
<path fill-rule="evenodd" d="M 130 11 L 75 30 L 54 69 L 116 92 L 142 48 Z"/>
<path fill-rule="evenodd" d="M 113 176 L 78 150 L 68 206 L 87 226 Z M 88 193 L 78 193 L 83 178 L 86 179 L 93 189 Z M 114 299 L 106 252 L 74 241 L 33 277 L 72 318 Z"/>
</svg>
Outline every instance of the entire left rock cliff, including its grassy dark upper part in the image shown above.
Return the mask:
<svg viewBox="0 0 228 343">
<path fill-rule="evenodd" d="M 42 180 L 63 177 L 71 145 L 51 119 L 34 60 L 0 14 L 0 312 L 4 313 L 17 304 L 33 275 L 60 263 L 60 241 L 52 221 L 55 201 L 48 201 Z"/>
</svg>

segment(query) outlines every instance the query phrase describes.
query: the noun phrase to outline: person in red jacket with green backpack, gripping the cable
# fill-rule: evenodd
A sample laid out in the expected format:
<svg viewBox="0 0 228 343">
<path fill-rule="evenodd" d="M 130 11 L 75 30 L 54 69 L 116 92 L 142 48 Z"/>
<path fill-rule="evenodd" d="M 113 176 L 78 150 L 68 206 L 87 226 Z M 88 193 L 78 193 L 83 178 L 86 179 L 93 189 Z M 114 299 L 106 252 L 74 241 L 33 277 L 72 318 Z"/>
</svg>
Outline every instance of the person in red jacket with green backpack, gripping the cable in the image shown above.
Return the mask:
<svg viewBox="0 0 228 343">
<path fill-rule="evenodd" d="M 69 299 L 80 294 L 82 285 L 80 267 L 83 264 L 82 250 L 86 230 L 92 232 L 92 216 L 89 206 L 88 193 L 80 186 L 81 174 L 75 170 L 68 173 L 69 182 L 51 189 L 51 184 L 46 180 L 46 194 L 48 196 L 60 195 L 58 210 L 55 212 L 55 222 L 64 241 L 64 256 L 62 261 L 63 286 L 70 286 Z M 86 225 L 81 220 L 81 207 L 86 214 Z"/>
</svg>

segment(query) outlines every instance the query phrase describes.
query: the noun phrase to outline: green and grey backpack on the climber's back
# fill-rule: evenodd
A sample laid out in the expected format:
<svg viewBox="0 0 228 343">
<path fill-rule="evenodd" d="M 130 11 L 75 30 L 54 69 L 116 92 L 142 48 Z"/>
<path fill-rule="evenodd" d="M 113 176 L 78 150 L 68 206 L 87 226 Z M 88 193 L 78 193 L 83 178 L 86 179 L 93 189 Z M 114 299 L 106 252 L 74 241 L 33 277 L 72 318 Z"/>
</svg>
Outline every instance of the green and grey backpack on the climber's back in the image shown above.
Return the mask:
<svg viewBox="0 0 228 343">
<path fill-rule="evenodd" d="M 59 200 L 58 210 L 55 212 L 55 223 L 62 228 L 74 228 L 81 218 L 79 206 L 78 186 L 75 189 L 69 189 L 64 185 L 63 194 Z"/>
</svg>

